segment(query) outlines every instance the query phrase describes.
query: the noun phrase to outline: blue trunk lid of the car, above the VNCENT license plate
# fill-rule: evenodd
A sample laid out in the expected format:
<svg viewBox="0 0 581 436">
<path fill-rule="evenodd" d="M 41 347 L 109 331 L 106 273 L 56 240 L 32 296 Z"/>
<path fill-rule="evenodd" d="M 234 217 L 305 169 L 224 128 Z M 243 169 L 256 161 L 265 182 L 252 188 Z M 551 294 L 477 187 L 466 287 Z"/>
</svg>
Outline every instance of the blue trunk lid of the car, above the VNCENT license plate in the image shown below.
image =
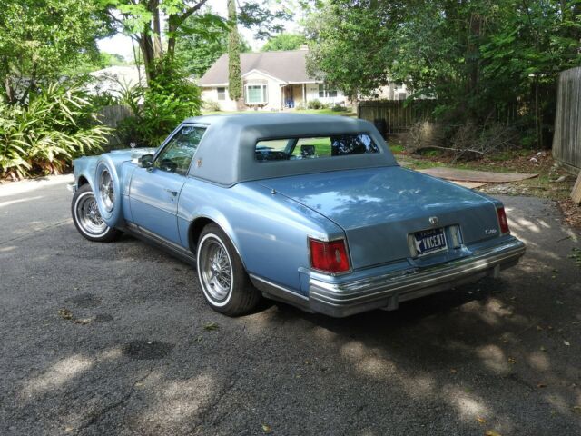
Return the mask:
<svg viewBox="0 0 581 436">
<path fill-rule="evenodd" d="M 497 229 L 497 213 L 486 196 L 399 166 L 261 183 L 340 225 L 355 268 L 409 258 L 408 234 L 430 228 L 434 216 L 440 227 L 459 225 L 464 243 L 498 235 L 490 232 Z"/>
</svg>

